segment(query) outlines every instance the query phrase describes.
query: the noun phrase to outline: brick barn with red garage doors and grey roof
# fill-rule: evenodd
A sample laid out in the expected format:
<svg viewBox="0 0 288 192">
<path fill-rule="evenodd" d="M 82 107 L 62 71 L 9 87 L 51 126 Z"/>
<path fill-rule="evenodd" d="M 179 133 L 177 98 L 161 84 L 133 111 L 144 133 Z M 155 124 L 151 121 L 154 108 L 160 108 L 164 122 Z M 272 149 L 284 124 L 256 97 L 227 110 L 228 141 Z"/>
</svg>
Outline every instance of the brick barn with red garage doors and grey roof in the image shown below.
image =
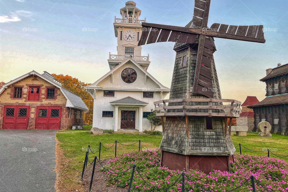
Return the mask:
<svg viewBox="0 0 288 192">
<path fill-rule="evenodd" d="M 70 129 L 83 125 L 82 99 L 50 73 L 31 71 L 0 88 L 0 129 Z"/>
</svg>

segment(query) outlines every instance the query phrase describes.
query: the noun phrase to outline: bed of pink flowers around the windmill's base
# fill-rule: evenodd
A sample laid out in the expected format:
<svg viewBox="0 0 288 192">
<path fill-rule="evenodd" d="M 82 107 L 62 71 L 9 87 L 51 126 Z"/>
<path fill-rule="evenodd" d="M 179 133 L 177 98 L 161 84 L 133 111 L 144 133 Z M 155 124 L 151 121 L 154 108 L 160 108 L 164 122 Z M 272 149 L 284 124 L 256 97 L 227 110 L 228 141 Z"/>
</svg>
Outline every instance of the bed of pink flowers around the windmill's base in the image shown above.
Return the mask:
<svg viewBox="0 0 288 192">
<path fill-rule="evenodd" d="M 128 187 L 133 164 L 137 169 L 134 173 L 131 191 L 159 191 L 157 189 L 169 189 L 160 191 L 181 192 L 181 173 L 183 170 L 169 170 L 160 166 L 161 151 L 159 149 L 131 152 L 121 157 L 111 159 L 106 168 L 112 172 L 107 173 L 107 184 L 115 184 L 118 187 Z M 231 162 L 231 172 L 211 170 L 204 174 L 199 170 L 189 170 L 185 173 L 185 191 L 252 191 L 250 175 L 253 175 L 256 191 L 288 191 L 288 163 L 284 160 L 268 158 L 256 155 L 234 154 L 235 162 Z M 104 171 L 104 170 L 103 170 Z M 143 181 L 144 179 L 144 181 Z M 150 187 L 148 184 L 152 187 Z M 241 187 L 239 187 L 241 186 Z"/>
</svg>

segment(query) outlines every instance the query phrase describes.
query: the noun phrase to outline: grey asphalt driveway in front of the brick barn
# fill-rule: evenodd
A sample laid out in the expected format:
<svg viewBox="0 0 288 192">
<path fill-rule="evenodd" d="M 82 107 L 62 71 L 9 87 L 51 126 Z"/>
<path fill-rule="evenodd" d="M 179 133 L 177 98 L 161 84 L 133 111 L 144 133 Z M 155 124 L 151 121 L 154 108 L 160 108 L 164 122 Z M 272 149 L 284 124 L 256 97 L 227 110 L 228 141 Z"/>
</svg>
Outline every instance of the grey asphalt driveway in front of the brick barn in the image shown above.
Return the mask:
<svg viewBox="0 0 288 192">
<path fill-rule="evenodd" d="M 0 130 L 0 192 L 55 192 L 55 130 Z"/>
</svg>

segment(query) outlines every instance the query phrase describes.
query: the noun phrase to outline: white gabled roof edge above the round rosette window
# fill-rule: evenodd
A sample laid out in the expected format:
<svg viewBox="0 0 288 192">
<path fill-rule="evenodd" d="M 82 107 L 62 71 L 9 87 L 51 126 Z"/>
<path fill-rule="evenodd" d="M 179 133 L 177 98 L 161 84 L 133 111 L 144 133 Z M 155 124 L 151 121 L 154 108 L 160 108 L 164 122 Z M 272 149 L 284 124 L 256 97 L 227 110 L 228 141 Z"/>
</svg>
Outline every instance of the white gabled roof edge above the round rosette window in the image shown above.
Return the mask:
<svg viewBox="0 0 288 192">
<path fill-rule="evenodd" d="M 154 81 L 157 85 L 159 85 L 159 89 L 158 91 L 166 91 L 166 92 L 170 92 L 170 88 L 165 87 L 164 85 L 162 85 L 157 79 L 155 79 L 150 73 L 148 73 L 145 69 L 143 69 L 143 67 L 141 67 L 133 58 L 128 57 L 127 59 L 125 59 L 124 61 L 122 61 L 122 63 L 120 63 L 119 65 L 117 65 L 115 68 L 113 68 L 112 70 L 110 70 L 108 73 L 106 73 L 104 76 L 102 76 L 100 79 L 98 79 L 97 81 L 95 81 L 94 83 L 85 86 L 85 88 L 101 88 L 98 85 L 98 83 L 100 83 L 102 80 L 104 80 L 106 77 L 108 77 L 109 75 L 111 75 L 114 71 L 116 71 L 117 69 L 119 69 L 120 67 L 122 67 L 125 63 L 127 63 L 128 61 L 131 61 L 136 67 L 138 67 L 143 73 L 145 73 L 150 79 L 152 79 L 152 81 Z"/>
</svg>

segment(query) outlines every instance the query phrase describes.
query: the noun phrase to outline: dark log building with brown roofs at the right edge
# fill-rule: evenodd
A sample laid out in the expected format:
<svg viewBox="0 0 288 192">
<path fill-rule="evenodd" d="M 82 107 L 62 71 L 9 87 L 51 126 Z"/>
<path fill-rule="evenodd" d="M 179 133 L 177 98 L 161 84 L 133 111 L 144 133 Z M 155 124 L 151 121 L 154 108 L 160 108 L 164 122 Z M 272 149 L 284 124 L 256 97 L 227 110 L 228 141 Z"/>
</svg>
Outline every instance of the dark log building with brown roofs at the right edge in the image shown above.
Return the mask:
<svg viewBox="0 0 288 192">
<path fill-rule="evenodd" d="M 271 124 L 271 133 L 288 135 L 288 64 L 266 70 L 266 76 L 260 79 L 266 83 L 266 98 L 248 108 L 254 111 L 254 129 L 258 123 Z"/>
</svg>

